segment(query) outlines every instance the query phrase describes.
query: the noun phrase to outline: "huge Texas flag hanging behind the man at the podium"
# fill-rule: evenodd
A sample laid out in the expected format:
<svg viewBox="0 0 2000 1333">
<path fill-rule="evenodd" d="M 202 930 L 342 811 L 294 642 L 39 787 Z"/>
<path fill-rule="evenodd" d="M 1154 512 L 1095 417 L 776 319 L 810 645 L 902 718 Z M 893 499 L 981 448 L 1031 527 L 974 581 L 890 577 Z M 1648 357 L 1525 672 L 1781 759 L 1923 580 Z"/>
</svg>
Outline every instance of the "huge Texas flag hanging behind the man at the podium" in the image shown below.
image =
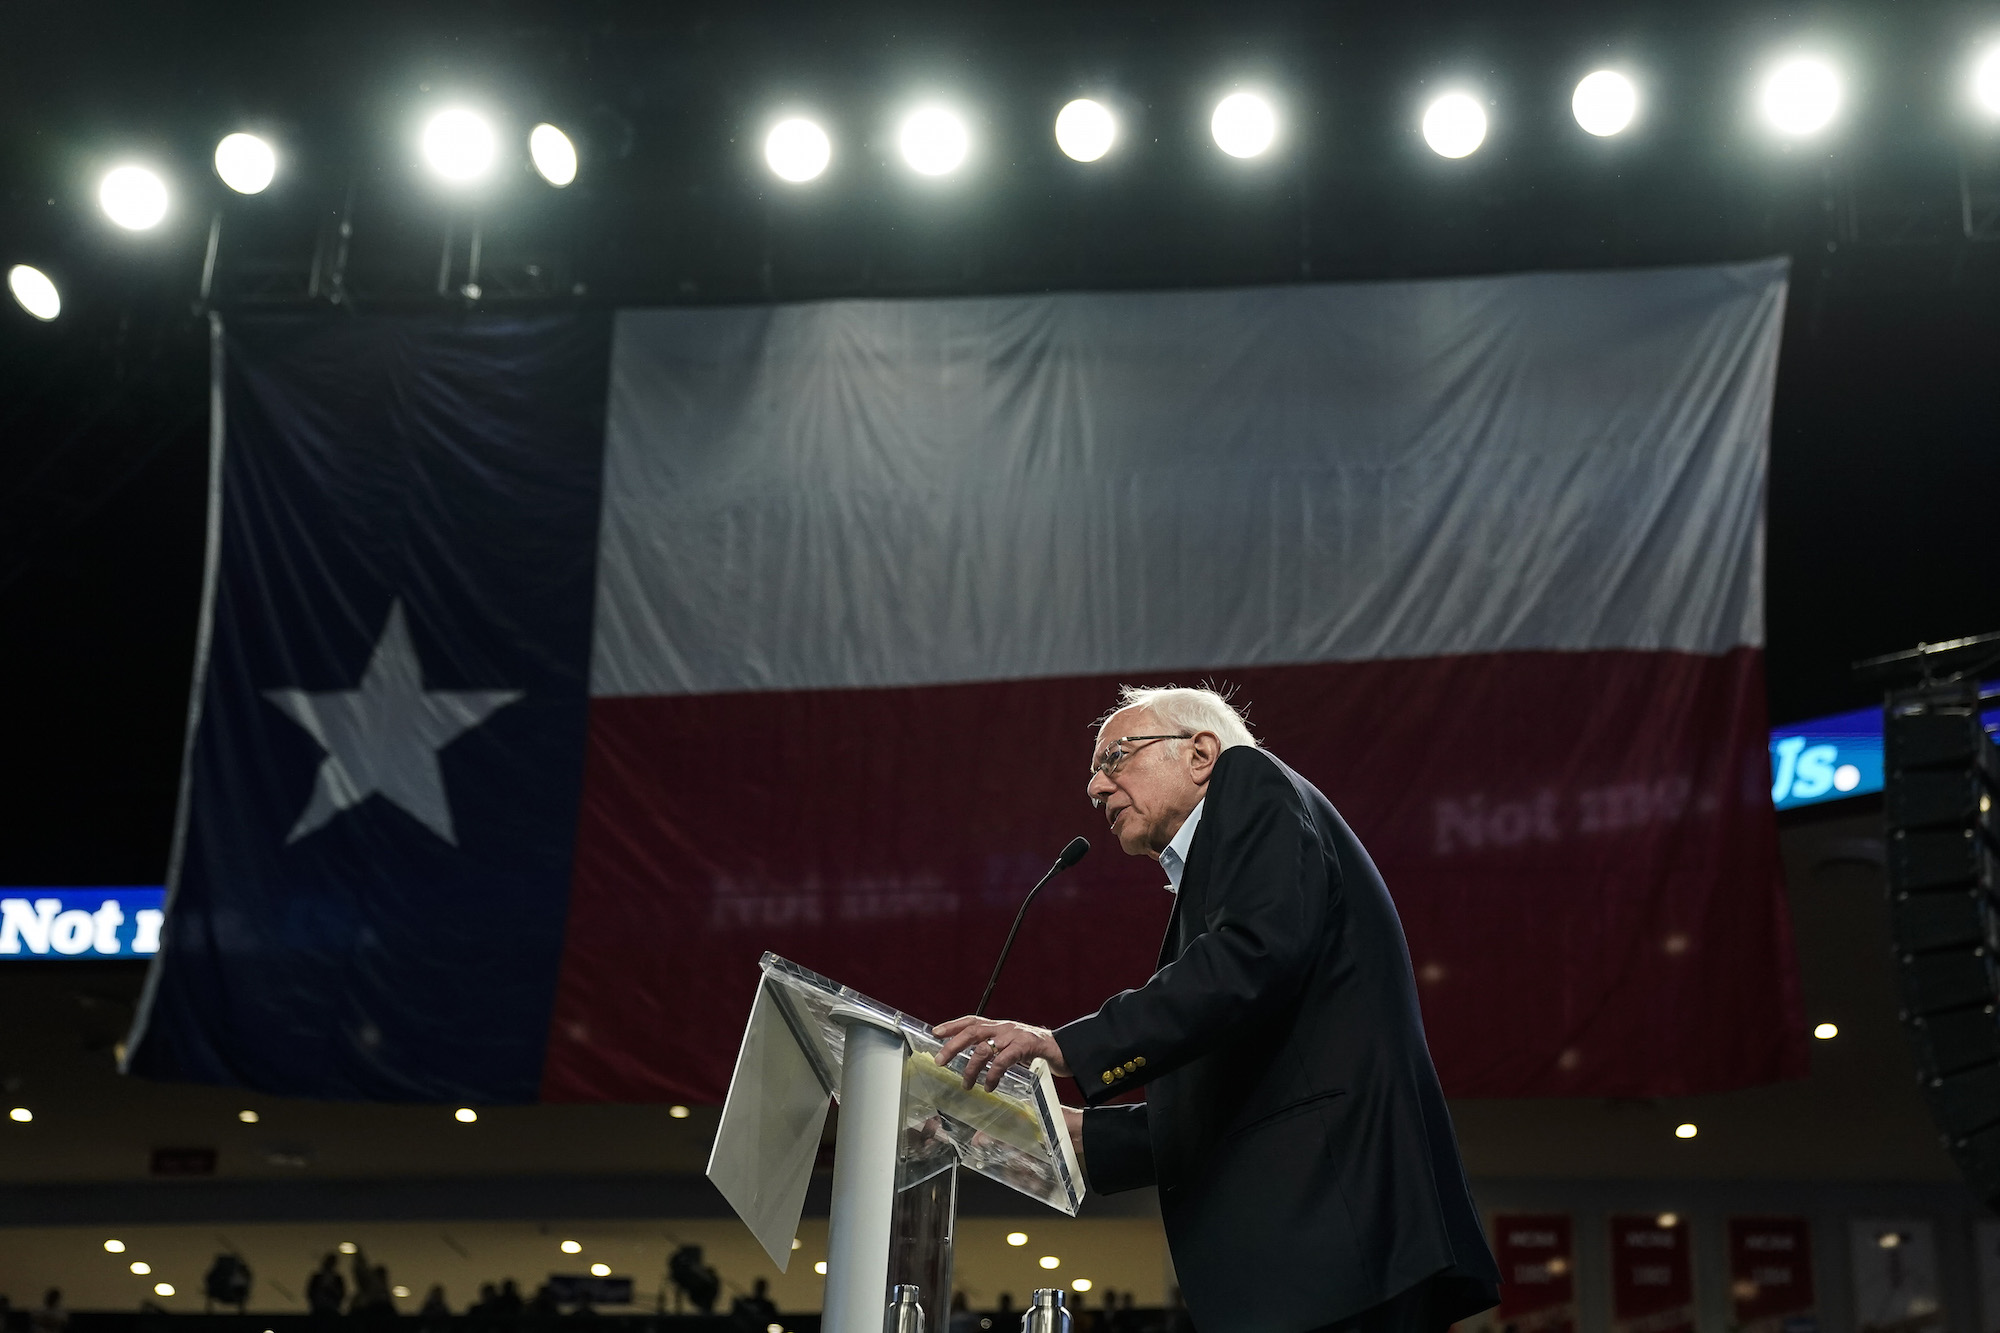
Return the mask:
<svg viewBox="0 0 2000 1333">
<path fill-rule="evenodd" d="M 1216 683 L 1342 809 L 1454 1095 L 1804 1073 L 1766 769 L 1782 262 L 216 328 L 130 1067 L 718 1101 L 772 949 L 1060 1023 L 1162 875 L 1084 797 Z"/>
</svg>

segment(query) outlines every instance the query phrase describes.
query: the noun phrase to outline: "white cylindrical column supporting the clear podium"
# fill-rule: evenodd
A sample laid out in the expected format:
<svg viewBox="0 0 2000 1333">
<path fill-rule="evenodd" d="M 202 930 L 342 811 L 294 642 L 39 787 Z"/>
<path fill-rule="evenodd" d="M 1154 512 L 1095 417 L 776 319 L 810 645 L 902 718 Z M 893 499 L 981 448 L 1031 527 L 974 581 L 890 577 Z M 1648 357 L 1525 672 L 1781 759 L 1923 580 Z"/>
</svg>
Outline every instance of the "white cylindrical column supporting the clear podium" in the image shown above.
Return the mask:
<svg viewBox="0 0 2000 1333">
<path fill-rule="evenodd" d="M 834 1019 L 846 1027 L 846 1059 L 840 1069 L 820 1329 L 882 1333 L 902 1129 L 902 1033 L 854 1009 L 836 1009 Z"/>
</svg>

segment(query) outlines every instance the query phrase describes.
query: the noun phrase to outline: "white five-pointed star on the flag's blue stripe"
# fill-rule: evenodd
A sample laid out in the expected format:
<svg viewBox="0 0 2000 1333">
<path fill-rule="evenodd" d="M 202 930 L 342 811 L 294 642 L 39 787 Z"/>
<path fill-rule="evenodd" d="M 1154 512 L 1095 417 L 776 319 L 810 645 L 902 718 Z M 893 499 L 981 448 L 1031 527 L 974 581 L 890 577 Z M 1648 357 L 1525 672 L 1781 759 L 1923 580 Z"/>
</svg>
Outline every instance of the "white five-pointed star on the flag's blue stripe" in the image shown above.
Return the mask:
<svg viewBox="0 0 2000 1333">
<path fill-rule="evenodd" d="M 520 697 L 522 691 L 426 691 L 402 600 L 390 602 L 388 624 L 356 689 L 264 691 L 326 751 L 306 813 L 284 841 L 296 843 L 340 811 L 380 795 L 458 847 L 438 751 Z"/>
</svg>

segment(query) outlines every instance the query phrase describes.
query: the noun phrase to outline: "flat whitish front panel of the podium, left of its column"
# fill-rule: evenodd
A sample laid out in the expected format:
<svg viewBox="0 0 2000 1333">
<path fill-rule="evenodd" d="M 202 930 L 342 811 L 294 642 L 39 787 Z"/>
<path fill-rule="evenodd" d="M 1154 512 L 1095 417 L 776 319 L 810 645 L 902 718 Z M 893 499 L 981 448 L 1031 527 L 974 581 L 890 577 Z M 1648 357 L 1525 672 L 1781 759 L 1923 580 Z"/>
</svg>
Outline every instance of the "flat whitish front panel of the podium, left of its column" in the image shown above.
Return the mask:
<svg viewBox="0 0 2000 1333">
<path fill-rule="evenodd" d="M 784 1273 L 826 1133 L 828 1089 L 762 981 L 722 1101 L 708 1179 Z"/>
</svg>

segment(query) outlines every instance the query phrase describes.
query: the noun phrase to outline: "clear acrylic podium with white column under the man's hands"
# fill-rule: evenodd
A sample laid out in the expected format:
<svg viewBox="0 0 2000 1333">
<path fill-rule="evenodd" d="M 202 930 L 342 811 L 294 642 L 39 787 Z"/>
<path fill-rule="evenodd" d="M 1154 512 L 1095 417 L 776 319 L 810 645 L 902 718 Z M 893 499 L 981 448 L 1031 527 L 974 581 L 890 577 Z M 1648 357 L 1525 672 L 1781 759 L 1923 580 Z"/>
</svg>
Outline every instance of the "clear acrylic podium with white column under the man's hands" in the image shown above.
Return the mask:
<svg viewBox="0 0 2000 1333">
<path fill-rule="evenodd" d="M 766 953 L 708 1179 L 782 1273 L 840 1101 L 824 1333 L 880 1333 L 898 1283 L 942 1331 L 952 1293 L 958 1167 L 1076 1215 L 1084 1177 L 1046 1061 L 964 1089 L 930 1025 Z"/>
</svg>

